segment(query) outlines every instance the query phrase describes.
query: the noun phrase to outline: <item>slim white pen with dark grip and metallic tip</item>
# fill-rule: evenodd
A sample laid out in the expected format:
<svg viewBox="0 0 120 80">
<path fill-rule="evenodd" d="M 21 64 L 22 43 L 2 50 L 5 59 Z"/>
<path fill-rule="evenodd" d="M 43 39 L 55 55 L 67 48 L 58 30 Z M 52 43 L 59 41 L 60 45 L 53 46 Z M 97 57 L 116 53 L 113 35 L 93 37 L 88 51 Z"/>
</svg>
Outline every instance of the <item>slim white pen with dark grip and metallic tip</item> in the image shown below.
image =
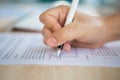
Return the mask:
<svg viewBox="0 0 120 80">
<path fill-rule="evenodd" d="M 68 13 L 68 16 L 67 16 L 64 26 L 66 26 L 72 22 L 75 12 L 76 12 L 76 9 L 77 9 L 77 6 L 78 6 L 78 3 L 79 3 L 79 0 L 72 0 L 72 4 L 71 4 L 71 7 L 70 7 L 70 10 L 69 10 L 69 13 Z M 64 44 L 58 46 L 57 56 L 59 56 L 61 54 L 63 46 L 64 46 Z"/>
</svg>

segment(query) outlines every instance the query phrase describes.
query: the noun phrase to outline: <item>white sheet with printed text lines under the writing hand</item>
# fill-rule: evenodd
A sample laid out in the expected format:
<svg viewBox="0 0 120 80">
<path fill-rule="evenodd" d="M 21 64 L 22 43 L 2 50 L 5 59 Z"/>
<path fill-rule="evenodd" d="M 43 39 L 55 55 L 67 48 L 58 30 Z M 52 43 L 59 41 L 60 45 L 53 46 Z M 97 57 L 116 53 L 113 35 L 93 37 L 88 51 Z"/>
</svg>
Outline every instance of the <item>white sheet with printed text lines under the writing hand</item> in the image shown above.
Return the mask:
<svg viewBox="0 0 120 80">
<path fill-rule="evenodd" d="M 56 49 L 44 45 L 38 33 L 1 33 L 0 64 L 40 64 L 120 67 L 120 41 L 99 49 L 72 48 L 56 56 Z"/>
</svg>

